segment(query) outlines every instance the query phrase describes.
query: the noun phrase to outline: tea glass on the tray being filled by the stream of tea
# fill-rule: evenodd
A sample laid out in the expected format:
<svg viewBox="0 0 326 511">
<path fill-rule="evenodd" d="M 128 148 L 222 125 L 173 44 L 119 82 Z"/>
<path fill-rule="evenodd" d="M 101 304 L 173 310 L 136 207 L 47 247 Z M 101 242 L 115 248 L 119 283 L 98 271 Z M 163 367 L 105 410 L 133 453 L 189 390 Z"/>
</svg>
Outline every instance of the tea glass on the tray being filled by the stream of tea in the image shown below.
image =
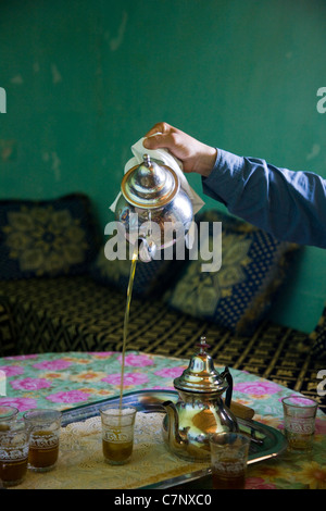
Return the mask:
<svg viewBox="0 0 326 511">
<path fill-rule="evenodd" d="M 136 412 L 134 407 L 120 404 L 100 409 L 102 449 L 106 463 L 122 465 L 130 460 Z"/>
</svg>

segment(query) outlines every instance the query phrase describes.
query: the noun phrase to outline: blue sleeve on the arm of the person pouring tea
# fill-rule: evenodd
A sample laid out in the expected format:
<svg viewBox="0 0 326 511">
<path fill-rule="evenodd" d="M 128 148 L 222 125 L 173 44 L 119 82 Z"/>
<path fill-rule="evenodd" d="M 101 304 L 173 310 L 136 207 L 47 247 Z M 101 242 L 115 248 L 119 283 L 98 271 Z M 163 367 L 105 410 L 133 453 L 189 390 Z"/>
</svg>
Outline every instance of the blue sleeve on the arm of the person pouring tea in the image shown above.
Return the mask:
<svg viewBox="0 0 326 511">
<path fill-rule="evenodd" d="M 280 240 L 326 248 L 326 180 L 217 149 L 203 191 Z"/>
</svg>

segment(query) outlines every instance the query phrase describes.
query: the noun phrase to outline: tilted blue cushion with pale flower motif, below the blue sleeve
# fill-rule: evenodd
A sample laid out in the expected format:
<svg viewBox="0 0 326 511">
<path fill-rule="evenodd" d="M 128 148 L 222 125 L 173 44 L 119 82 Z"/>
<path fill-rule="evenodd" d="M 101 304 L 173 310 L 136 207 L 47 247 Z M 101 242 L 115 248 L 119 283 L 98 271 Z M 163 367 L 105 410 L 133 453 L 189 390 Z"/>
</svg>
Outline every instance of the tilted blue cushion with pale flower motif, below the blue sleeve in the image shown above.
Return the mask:
<svg viewBox="0 0 326 511">
<path fill-rule="evenodd" d="M 209 225 L 201 239 L 201 224 Z M 200 242 L 213 242 L 213 223 L 222 222 L 222 264 L 216 271 L 202 271 L 198 258 L 185 270 L 164 300 L 174 309 L 210 320 L 241 335 L 251 335 L 266 315 L 276 290 L 283 284 L 288 256 L 297 245 L 276 240 L 272 235 L 239 219 L 210 210 L 197 219 Z M 221 237 L 220 237 L 221 239 Z"/>
</svg>

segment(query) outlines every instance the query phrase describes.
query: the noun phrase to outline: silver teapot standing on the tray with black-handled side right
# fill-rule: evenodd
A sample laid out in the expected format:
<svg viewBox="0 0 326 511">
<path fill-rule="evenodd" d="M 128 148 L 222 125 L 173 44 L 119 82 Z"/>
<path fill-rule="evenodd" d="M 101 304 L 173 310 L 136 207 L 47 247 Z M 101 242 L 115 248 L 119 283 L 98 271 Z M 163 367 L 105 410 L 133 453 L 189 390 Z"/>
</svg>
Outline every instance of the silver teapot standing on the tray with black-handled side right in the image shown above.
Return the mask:
<svg viewBox="0 0 326 511">
<path fill-rule="evenodd" d="M 239 431 L 237 419 L 229 410 L 231 374 L 228 367 L 221 374 L 215 371 L 208 348 L 205 338 L 201 337 L 199 351 L 191 357 L 188 369 L 174 379 L 178 401 L 163 403 L 166 411 L 163 439 L 174 454 L 188 461 L 210 460 L 211 433 Z M 222 395 L 225 391 L 224 402 Z"/>
</svg>

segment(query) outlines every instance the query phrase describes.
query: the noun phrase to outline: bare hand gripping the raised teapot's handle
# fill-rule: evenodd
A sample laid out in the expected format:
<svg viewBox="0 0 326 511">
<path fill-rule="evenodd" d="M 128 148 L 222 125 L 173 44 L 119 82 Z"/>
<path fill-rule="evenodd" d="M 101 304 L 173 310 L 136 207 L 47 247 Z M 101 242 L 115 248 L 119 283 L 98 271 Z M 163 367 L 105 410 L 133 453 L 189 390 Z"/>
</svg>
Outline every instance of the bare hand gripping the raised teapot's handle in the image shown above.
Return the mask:
<svg viewBox="0 0 326 511">
<path fill-rule="evenodd" d="M 147 149 L 164 148 L 183 162 L 184 172 L 197 172 L 209 176 L 217 154 L 217 149 L 200 142 L 167 123 L 155 124 L 146 135 L 143 147 Z"/>
</svg>

